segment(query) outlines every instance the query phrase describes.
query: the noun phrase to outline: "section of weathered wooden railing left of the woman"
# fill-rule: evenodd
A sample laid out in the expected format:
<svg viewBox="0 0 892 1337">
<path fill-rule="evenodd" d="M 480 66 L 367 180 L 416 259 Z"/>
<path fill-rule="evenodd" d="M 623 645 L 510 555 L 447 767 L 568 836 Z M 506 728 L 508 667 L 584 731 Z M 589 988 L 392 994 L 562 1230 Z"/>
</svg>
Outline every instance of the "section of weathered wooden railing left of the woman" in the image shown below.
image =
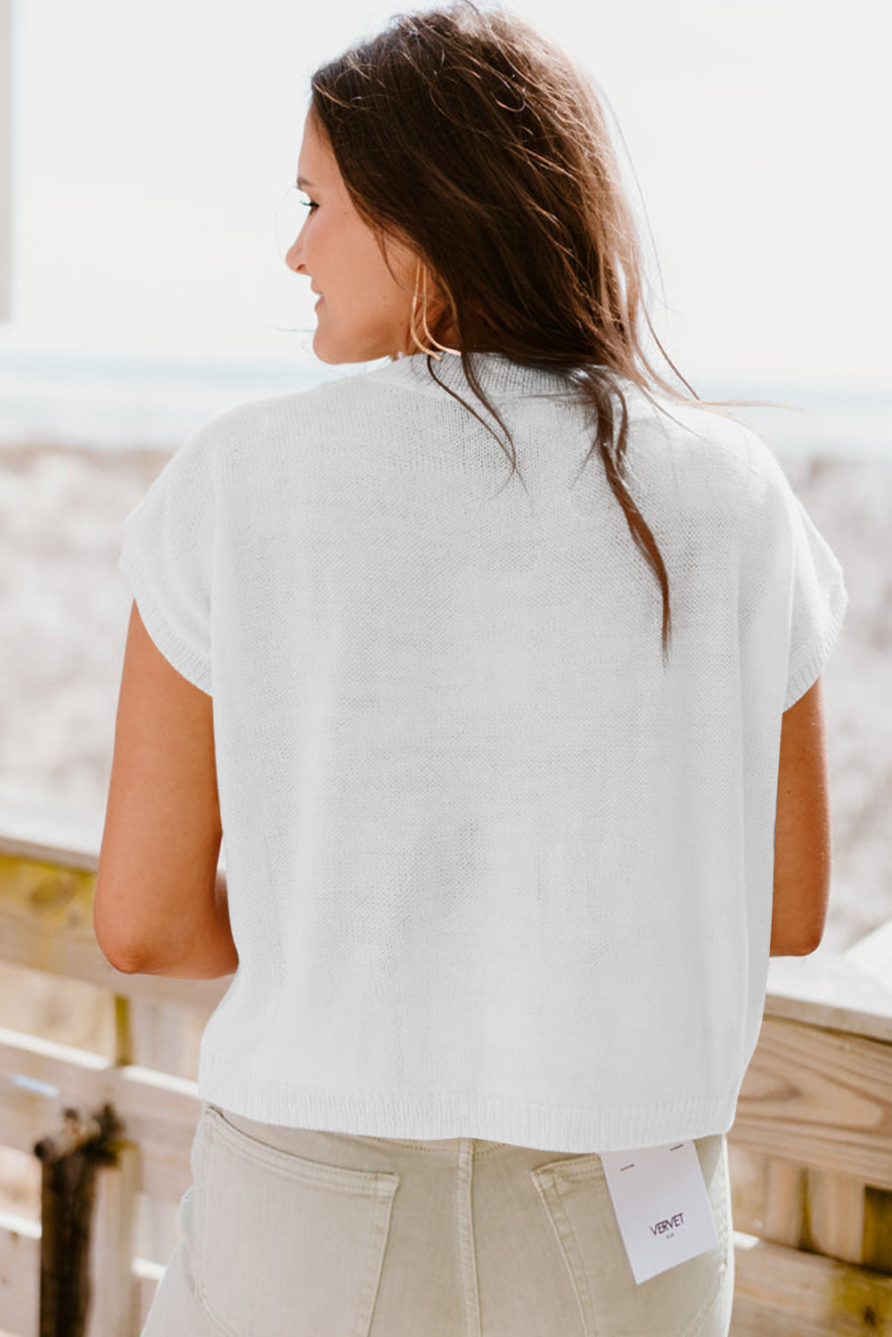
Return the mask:
<svg viewBox="0 0 892 1337">
<path fill-rule="evenodd" d="M 187 1021 L 202 1025 L 229 977 L 122 975 L 92 931 L 98 841 L 51 838 L 31 817 L 0 813 L 0 961 L 79 980 L 114 1000 L 114 1054 L 71 1048 L 3 1028 L 0 1146 L 33 1155 L 64 1126 L 108 1104 L 123 1135 L 116 1165 L 99 1167 L 84 1337 L 136 1337 L 178 1238 L 177 1209 L 191 1183 L 201 1114 Z M 0 1333 L 36 1337 L 40 1222 L 0 1211 Z"/>
</svg>

